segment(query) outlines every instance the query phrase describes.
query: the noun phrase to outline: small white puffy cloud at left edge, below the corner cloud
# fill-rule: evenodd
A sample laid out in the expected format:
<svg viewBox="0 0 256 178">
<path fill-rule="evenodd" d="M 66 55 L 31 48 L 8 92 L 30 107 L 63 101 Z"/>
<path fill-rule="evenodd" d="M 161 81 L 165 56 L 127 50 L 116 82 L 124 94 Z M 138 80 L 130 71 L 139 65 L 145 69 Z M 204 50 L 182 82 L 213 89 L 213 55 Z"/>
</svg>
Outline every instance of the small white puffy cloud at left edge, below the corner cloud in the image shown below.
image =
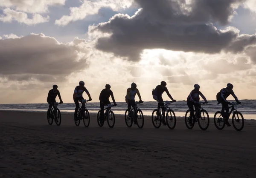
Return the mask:
<svg viewBox="0 0 256 178">
<path fill-rule="evenodd" d="M 4 9 L 3 10 L 4 15 L 0 16 L 0 21 L 3 22 L 12 22 L 17 21 L 18 23 L 25 23 L 26 25 L 34 25 L 38 23 L 44 23 L 49 21 L 49 15 L 47 17 L 43 17 L 40 14 L 33 14 L 32 19 L 28 18 L 28 14 L 24 12 L 15 11 L 12 9 Z"/>
</svg>

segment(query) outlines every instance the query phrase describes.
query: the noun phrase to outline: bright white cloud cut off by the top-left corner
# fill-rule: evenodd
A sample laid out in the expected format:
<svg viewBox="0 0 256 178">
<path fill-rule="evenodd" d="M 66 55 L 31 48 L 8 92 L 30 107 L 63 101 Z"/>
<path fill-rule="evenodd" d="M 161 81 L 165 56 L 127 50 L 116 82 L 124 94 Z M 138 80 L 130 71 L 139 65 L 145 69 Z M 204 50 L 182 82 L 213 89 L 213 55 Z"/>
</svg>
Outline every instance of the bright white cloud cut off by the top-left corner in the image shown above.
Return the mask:
<svg viewBox="0 0 256 178">
<path fill-rule="evenodd" d="M 1 0 L 0 7 L 27 13 L 45 13 L 49 6 L 64 5 L 65 0 Z"/>
</svg>

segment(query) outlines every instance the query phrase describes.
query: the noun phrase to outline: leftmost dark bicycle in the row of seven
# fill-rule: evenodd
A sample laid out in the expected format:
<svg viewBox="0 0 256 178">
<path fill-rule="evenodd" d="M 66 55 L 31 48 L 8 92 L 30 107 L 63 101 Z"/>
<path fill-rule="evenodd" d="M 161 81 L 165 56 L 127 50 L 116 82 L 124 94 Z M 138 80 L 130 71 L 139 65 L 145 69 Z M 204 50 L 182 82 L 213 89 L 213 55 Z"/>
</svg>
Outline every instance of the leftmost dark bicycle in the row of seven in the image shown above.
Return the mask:
<svg viewBox="0 0 256 178">
<path fill-rule="evenodd" d="M 61 112 L 57 108 L 59 103 L 51 103 L 51 108 L 47 110 L 47 121 L 49 125 L 52 125 L 53 120 L 55 120 L 55 123 L 57 126 L 61 125 Z M 57 114 L 58 113 L 58 114 Z"/>
</svg>

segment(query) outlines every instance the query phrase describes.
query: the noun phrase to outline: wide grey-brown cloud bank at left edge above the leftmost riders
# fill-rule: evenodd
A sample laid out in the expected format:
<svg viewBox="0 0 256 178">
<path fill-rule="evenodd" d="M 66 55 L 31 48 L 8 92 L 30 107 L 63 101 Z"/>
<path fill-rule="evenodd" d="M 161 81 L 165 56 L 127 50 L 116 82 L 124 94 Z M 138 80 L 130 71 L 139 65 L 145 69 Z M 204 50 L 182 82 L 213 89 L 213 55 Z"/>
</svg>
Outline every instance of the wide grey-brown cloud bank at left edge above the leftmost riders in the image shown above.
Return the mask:
<svg viewBox="0 0 256 178">
<path fill-rule="evenodd" d="M 9 80 L 65 80 L 86 67 L 76 61 L 77 49 L 44 35 L 0 40 L 0 77 Z"/>
</svg>

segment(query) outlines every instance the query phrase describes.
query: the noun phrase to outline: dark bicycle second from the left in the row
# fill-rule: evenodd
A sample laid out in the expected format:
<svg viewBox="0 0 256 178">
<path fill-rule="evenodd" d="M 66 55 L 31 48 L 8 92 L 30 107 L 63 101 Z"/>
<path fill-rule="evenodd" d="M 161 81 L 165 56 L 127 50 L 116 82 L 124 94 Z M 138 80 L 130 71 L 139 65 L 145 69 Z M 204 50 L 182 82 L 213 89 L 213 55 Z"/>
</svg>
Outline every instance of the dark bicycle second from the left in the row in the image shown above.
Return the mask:
<svg viewBox="0 0 256 178">
<path fill-rule="evenodd" d="M 74 116 L 76 126 L 79 126 L 80 120 L 84 121 L 84 126 L 88 127 L 90 124 L 90 114 L 86 108 L 87 101 L 89 100 L 79 100 L 82 103 L 82 106 L 79 107 L 77 115 Z"/>
</svg>

